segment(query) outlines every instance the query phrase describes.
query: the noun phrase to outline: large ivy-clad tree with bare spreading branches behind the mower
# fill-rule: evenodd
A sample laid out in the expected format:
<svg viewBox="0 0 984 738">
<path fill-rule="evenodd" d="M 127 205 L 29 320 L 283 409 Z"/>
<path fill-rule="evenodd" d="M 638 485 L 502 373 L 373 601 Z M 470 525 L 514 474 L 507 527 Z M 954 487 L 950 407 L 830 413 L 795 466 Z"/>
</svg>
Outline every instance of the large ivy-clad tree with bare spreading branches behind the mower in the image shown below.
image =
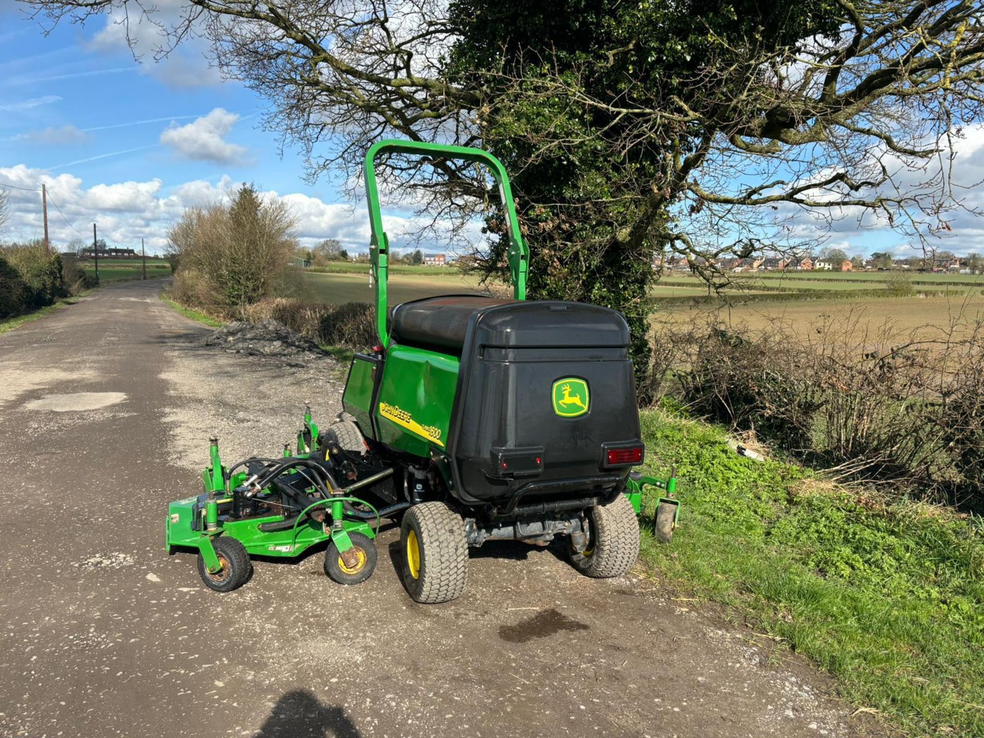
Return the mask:
<svg viewBox="0 0 984 738">
<path fill-rule="evenodd" d="M 309 176 L 343 173 L 350 194 L 380 138 L 491 148 L 521 184 L 535 173 L 517 188 L 533 293 L 617 307 L 642 342 L 654 253 L 721 283 L 720 257 L 809 250 L 843 219 L 926 243 L 968 207 L 960 186 L 974 184 L 954 182 L 952 164 L 984 103 L 979 0 L 816 3 L 808 10 L 825 23 L 801 25 L 823 30 L 799 34 L 795 23 L 782 27 L 791 34 L 762 32 L 754 8 L 732 24 L 686 3 L 615 3 L 606 12 L 632 23 L 599 26 L 585 43 L 610 45 L 580 54 L 557 53 L 556 38 L 512 43 L 522 28 L 511 21 L 536 12 L 519 0 L 187 0 L 176 12 L 138 0 L 26 1 L 53 22 L 154 23 L 157 54 L 204 36 L 223 75 L 270 101 L 266 126 L 304 149 Z M 786 23 L 801 7 L 763 17 Z M 647 45 L 667 18 L 674 33 Z M 487 53 L 473 64 L 459 52 L 483 36 Z M 699 57 L 682 48 L 646 76 L 674 43 L 697 44 Z M 542 114 L 515 116 L 530 108 Z M 589 125 L 562 125 L 571 121 Z M 588 158 L 604 170 L 574 187 L 535 186 L 544 169 Z M 495 194 L 470 165 L 390 164 L 382 185 L 394 197 L 455 215 L 459 228 Z M 626 277 L 632 264 L 643 266 Z"/>
</svg>

